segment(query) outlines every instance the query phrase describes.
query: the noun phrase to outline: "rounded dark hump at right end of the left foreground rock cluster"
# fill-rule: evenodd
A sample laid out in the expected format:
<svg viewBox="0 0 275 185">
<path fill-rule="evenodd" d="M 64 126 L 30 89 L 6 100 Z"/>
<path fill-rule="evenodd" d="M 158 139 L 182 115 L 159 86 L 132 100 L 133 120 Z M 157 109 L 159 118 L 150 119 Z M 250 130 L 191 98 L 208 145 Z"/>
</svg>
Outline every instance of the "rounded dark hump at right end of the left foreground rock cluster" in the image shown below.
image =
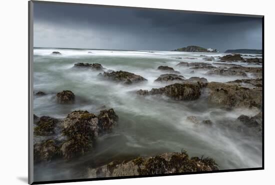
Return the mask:
<svg viewBox="0 0 275 185">
<path fill-rule="evenodd" d="M 109 132 L 113 128 L 116 121 L 118 120 L 118 116 L 112 108 L 108 110 L 101 110 L 100 113 L 97 115 L 97 118 L 98 126 L 101 129 L 101 131 L 107 132 Z"/>
</svg>

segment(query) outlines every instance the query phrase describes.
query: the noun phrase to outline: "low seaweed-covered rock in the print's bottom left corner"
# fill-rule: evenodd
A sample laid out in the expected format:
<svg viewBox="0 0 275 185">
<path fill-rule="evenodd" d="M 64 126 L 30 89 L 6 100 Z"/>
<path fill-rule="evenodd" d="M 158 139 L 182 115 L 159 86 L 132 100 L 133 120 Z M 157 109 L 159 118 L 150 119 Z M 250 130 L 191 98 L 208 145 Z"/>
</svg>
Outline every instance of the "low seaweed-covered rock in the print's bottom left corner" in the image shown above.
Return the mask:
<svg viewBox="0 0 275 185">
<path fill-rule="evenodd" d="M 45 140 L 33 145 L 34 162 L 48 162 L 59 156 L 59 148 L 54 140 Z"/>
</svg>

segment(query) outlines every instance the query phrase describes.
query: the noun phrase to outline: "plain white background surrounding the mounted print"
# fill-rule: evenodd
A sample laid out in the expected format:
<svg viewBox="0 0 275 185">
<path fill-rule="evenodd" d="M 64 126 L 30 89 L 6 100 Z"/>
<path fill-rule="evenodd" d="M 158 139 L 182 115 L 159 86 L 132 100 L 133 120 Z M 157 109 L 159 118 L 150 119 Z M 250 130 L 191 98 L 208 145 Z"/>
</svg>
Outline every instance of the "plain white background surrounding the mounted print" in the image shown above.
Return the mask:
<svg viewBox="0 0 275 185">
<path fill-rule="evenodd" d="M 56 0 L 58 1 L 58 0 Z M 59 0 L 61 1 L 61 0 Z M 123 6 L 265 15 L 265 169 L 66 184 L 274 184 L 274 4 L 272 0 L 64 0 Z M 0 5 L 0 183 L 27 183 L 27 0 Z M 273 175 L 273 176 L 272 176 Z"/>
</svg>

